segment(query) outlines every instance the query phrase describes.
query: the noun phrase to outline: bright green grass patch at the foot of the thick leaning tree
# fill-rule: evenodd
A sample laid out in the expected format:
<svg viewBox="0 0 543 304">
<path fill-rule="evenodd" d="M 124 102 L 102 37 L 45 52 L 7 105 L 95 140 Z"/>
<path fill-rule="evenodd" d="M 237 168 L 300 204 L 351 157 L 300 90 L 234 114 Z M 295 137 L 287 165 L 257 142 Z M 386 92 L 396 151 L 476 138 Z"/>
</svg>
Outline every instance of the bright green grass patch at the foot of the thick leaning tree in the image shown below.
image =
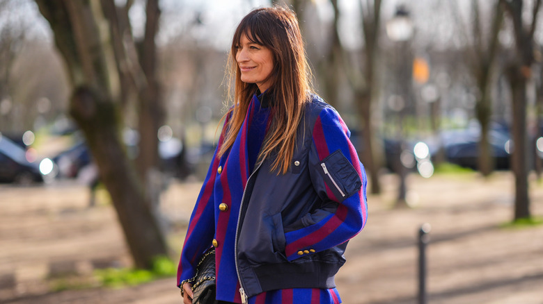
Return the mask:
<svg viewBox="0 0 543 304">
<path fill-rule="evenodd" d="M 158 278 L 175 276 L 176 265 L 168 257 L 157 257 L 152 263 L 152 269 L 109 268 L 95 270 L 95 276 L 103 286 L 124 287 L 140 285 Z"/>
</svg>

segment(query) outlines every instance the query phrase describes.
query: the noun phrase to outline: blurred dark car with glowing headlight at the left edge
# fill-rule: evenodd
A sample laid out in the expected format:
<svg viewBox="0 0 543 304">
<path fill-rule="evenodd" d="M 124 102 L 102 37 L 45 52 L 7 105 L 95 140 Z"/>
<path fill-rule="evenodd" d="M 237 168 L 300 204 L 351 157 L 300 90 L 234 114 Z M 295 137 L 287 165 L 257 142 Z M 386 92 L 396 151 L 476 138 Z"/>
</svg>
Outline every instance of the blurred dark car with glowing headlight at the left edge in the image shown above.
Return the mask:
<svg viewBox="0 0 543 304">
<path fill-rule="evenodd" d="M 38 162 L 32 151 L 27 151 L 0 133 L 0 182 L 29 185 L 43 182 L 54 174 L 49 158 Z"/>
</svg>

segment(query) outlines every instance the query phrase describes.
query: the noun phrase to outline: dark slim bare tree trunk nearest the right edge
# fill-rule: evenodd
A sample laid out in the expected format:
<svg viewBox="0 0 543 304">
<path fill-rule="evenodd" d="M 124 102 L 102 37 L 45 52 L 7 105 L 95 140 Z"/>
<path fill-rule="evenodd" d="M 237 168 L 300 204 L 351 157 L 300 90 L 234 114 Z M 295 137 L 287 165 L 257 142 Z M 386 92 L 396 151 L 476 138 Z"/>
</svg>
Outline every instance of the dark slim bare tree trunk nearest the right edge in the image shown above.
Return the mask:
<svg viewBox="0 0 543 304">
<path fill-rule="evenodd" d="M 535 0 L 530 24 L 524 24 L 523 0 L 500 0 L 508 12 L 514 31 L 515 56 L 508 62 L 506 76 L 512 90 L 512 167 L 514 171 L 514 219 L 530 218 L 530 198 L 528 196 L 528 137 L 526 130 L 526 106 L 528 81 L 533 77 L 532 65 L 535 63 L 534 33 L 541 0 Z"/>
</svg>

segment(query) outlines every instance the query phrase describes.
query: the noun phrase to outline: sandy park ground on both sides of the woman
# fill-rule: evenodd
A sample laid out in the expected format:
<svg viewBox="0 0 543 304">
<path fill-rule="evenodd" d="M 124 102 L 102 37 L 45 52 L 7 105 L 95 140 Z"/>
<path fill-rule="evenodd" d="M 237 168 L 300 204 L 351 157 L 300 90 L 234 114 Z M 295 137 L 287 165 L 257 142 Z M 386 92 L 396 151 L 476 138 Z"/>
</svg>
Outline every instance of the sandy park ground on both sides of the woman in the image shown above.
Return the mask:
<svg viewBox="0 0 543 304">
<path fill-rule="evenodd" d="M 512 219 L 513 178 L 499 172 L 409 176 L 414 209 L 391 210 L 395 176 L 384 194 L 369 196 L 370 216 L 349 243 L 336 276 L 347 304 L 417 303 L 416 235 L 430 223 L 428 303 L 543 303 L 543 226 L 499 228 Z M 168 216 L 186 222 L 198 183 L 174 184 L 164 194 Z M 181 303 L 175 279 L 123 289 L 48 292 L 52 269 L 89 273 L 104 264 L 129 264 L 116 214 L 107 205 L 86 209 L 84 187 L 0 186 L 0 303 Z M 530 188 L 531 210 L 543 216 L 543 185 Z M 180 246 L 183 226 L 171 235 Z"/>
</svg>

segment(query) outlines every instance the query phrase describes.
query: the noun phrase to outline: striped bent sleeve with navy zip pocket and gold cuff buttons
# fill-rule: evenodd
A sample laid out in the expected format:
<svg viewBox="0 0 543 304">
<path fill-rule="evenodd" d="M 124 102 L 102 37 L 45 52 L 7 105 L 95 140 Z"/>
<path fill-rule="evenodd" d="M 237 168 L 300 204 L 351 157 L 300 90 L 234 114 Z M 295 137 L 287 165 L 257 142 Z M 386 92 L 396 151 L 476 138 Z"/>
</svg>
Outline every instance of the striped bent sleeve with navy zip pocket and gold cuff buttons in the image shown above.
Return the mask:
<svg viewBox="0 0 543 304">
<path fill-rule="evenodd" d="M 324 203 L 304 217 L 304 228 L 285 233 L 289 261 L 342 244 L 365 225 L 367 180 L 349 136 L 336 110 L 326 107 L 320 112 L 308 166 L 313 187 Z"/>
</svg>

